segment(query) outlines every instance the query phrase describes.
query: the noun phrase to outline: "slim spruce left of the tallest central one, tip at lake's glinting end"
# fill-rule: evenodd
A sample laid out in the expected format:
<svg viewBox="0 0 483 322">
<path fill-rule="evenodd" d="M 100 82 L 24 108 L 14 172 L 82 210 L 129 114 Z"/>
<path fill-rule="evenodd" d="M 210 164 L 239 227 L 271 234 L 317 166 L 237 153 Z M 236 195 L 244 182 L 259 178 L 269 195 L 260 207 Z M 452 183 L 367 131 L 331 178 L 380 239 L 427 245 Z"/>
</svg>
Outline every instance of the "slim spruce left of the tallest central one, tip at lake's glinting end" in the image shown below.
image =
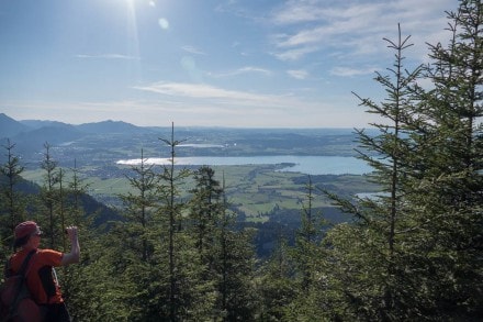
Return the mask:
<svg viewBox="0 0 483 322">
<path fill-rule="evenodd" d="M 111 265 L 117 267 L 112 271 L 114 279 L 122 281 L 112 295 L 120 297 L 117 300 L 130 308 L 117 319 L 124 314 L 131 321 L 160 319 L 158 301 L 161 301 L 165 292 L 155 280 L 159 279 L 159 274 L 167 271 L 157 267 L 159 263 L 156 260 L 160 225 L 156 223 L 158 177 L 153 168 L 154 165 L 146 163 L 142 149 L 139 166 L 133 166 L 126 175 L 131 189 L 120 196 L 124 220 L 116 222 L 109 234 L 112 240 L 109 248 L 119 257 L 108 258 L 114 260 Z"/>
</svg>

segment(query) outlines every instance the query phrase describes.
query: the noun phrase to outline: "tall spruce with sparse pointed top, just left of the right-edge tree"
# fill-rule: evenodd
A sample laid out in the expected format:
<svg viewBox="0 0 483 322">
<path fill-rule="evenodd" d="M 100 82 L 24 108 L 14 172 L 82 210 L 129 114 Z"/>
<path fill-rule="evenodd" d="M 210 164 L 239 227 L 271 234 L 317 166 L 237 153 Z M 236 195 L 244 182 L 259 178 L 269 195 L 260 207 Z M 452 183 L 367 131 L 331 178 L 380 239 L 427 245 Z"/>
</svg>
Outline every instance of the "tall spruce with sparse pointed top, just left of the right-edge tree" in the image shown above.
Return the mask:
<svg viewBox="0 0 483 322">
<path fill-rule="evenodd" d="M 382 191 L 372 198 L 357 202 L 329 195 L 356 222 L 333 230 L 327 243 L 333 246 L 334 271 L 340 274 L 335 280 L 342 287 L 348 317 L 369 320 L 400 320 L 418 315 L 413 302 L 417 300 L 415 285 L 411 284 L 403 258 L 406 256 L 407 232 L 414 229 L 411 209 L 405 196 L 413 193 L 411 187 L 414 164 L 415 124 L 420 122 L 414 106 L 420 91 L 416 80 L 422 68 L 413 71 L 404 67 L 403 53 L 412 46 L 409 37 L 402 37 L 401 27 L 395 42 L 384 38 L 394 51 L 395 60 L 389 75 L 377 73 L 375 81 L 386 91 L 381 103 L 361 100 L 369 113 L 380 116 L 371 125 L 379 130 L 375 136 L 358 131 L 360 158 L 373 167 L 370 179 L 381 185 Z M 350 244 L 340 236 L 352 235 Z M 334 281 L 334 279 L 333 279 Z M 350 282 L 349 282 L 350 281 Z M 347 284 L 349 282 L 349 284 Z"/>
</svg>

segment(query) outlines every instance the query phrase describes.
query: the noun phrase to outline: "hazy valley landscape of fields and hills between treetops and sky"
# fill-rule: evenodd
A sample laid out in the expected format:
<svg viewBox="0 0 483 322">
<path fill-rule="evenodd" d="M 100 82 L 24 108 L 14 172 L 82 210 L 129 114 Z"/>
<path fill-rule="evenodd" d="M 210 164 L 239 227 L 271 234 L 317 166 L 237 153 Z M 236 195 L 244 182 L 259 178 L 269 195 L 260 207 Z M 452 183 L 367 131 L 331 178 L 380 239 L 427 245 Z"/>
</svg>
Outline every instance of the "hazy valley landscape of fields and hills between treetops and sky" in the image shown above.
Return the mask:
<svg viewBox="0 0 483 322">
<path fill-rule="evenodd" d="M 35 125 L 31 132 L 25 132 L 23 127 L 20 134 L 7 136 L 10 143 L 15 144 L 13 153 L 20 156 L 25 167 L 22 174 L 25 179 L 43 185 L 45 173 L 41 164 L 48 145 L 50 157 L 65 169 L 66 182 L 69 182 L 75 169 L 87 192 L 114 209 L 122 206 L 119 196 L 132 189 L 127 177 L 133 176 L 133 165 L 119 160 L 141 159 L 142 155 L 143 158 L 170 157 L 170 146 L 162 140 L 172 140 L 171 127 L 138 127 L 113 121 L 82 125 L 25 122 L 22 125 L 29 124 Z M 176 164 L 177 158 L 250 160 L 245 164 L 203 165 L 211 166 L 216 179 L 224 182 L 229 209 L 238 215 L 238 221 L 257 224 L 261 231 L 263 225 L 267 225 L 265 231 L 270 231 L 269 226 L 273 223 L 287 226 L 289 233 L 299 226 L 310 180 L 314 188 L 312 208 L 328 223 L 350 218 L 335 209 L 323 190 L 351 198 L 379 189 L 363 175 L 366 165 L 352 162 L 345 170 L 346 166 L 340 164 L 341 159 L 355 159 L 357 155 L 353 130 L 175 127 L 173 135 L 178 143 Z M 315 160 L 310 170 L 296 170 L 294 166 L 301 157 Z M 317 163 L 321 168 L 333 163 L 339 169 L 337 173 L 328 170 L 319 174 Z M 194 171 L 200 166 L 181 163 L 176 168 Z M 291 171 L 291 168 L 294 170 Z M 162 166 L 156 165 L 154 169 L 161 171 Z M 181 198 L 188 200 L 192 179 L 183 185 Z"/>
</svg>

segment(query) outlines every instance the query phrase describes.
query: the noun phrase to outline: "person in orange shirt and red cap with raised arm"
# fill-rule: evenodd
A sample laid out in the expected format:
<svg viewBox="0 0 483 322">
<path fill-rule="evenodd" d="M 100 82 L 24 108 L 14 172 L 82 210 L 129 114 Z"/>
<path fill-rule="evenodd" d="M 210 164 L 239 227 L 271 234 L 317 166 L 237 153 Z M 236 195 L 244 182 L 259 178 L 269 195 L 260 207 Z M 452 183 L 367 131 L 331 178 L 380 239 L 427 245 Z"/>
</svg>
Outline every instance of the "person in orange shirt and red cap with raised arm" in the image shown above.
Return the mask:
<svg viewBox="0 0 483 322">
<path fill-rule="evenodd" d="M 14 231 L 15 254 L 10 257 L 10 269 L 11 273 L 15 274 L 26 255 L 31 251 L 36 251 L 30 259 L 25 276 L 32 298 L 44 312 L 45 318 L 43 321 L 70 321 L 54 269 L 54 267 L 79 262 L 80 247 L 77 227 L 68 226 L 66 234 L 70 240 L 70 253 L 38 248 L 42 231 L 33 221 L 20 223 Z M 20 251 L 16 251 L 19 247 Z"/>
</svg>

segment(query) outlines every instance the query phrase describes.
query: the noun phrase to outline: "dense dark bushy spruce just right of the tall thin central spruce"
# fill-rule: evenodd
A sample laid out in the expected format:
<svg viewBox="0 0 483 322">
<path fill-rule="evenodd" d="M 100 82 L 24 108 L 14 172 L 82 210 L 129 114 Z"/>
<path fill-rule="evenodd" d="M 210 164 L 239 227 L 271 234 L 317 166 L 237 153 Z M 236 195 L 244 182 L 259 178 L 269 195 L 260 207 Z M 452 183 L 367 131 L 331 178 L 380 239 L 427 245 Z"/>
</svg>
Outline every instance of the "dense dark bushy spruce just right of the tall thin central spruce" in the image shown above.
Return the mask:
<svg viewBox="0 0 483 322">
<path fill-rule="evenodd" d="M 235 215 L 227 210 L 224 188 L 207 166 L 194 174 L 195 188 L 190 206 L 190 231 L 204 279 L 215 296 L 213 318 L 222 321 L 251 321 L 255 312 L 252 288 L 252 234 L 235 230 Z"/>
</svg>

